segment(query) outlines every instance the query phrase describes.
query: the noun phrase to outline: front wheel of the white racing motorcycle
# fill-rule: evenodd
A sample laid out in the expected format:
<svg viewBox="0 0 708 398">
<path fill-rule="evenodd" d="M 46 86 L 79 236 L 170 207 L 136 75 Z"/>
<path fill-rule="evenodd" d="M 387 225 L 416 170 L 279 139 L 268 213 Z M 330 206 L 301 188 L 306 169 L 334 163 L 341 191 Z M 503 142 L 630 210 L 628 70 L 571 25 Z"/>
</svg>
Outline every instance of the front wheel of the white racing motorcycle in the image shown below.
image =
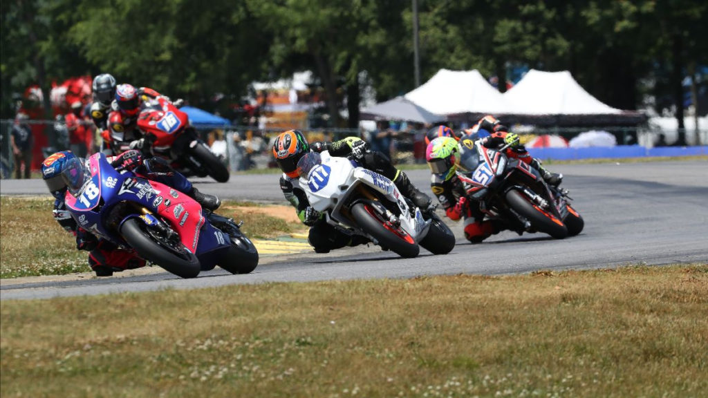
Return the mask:
<svg viewBox="0 0 708 398">
<path fill-rule="evenodd" d="M 356 203 L 352 206 L 351 213 L 355 222 L 374 237 L 380 246 L 385 246 L 399 256 L 407 258 L 416 257 L 421 252 L 420 246 L 411 235 L 400 227 L 387 225 L 387 220 L 384 220 L 370 203 Z"/>
</svg>

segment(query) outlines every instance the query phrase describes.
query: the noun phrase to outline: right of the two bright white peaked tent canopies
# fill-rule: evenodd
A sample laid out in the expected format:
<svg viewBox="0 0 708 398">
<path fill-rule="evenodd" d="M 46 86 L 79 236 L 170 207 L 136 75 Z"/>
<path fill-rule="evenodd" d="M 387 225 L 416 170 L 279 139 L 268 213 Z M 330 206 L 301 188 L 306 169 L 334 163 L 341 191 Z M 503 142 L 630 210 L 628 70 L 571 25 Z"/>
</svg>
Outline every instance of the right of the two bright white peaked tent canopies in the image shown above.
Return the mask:
<svg viewBox="0 0 708 398">
<path fill-rule="evenodd" d="M 598 101 L 571 73 L 531 69 L 503 94 L 508 113 L 517 115 L 607 115 L 622 113 Z"/>
</svg>

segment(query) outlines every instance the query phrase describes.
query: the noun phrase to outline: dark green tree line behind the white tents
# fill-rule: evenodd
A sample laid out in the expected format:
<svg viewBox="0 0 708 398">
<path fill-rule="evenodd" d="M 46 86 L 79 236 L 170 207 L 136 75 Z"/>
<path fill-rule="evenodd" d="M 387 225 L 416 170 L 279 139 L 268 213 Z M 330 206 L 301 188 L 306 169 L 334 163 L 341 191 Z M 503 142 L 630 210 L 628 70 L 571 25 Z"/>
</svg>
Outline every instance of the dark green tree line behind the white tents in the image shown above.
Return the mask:
<svg viewBox="0 0 708 398">
<path fill-rule="evenodd" d="M 417 23 L 413 5 L 417 6 Z M 708 63 L 708 11 L 691 0 L 1 0 L 1 113 L 13 93 L 109 72 L 205 104 L 249 82 L 312 70 L 338 125 L 355 126 L 362 87 L 385 100 L 440 68 L 496 75 L 569 70 L 610 106 L 645 94 L 683 115 L 681 81 Z M 365 72 L 362 73 L 362 72 Z M 366 79 L 363 79 L 365 76 Z M 338 120 L 346 98 L 350 118 Z M 683 118 L 680 119 L 683 123 Z M 683 124 L 681 125 L 683 127 Z"/>
</svg>

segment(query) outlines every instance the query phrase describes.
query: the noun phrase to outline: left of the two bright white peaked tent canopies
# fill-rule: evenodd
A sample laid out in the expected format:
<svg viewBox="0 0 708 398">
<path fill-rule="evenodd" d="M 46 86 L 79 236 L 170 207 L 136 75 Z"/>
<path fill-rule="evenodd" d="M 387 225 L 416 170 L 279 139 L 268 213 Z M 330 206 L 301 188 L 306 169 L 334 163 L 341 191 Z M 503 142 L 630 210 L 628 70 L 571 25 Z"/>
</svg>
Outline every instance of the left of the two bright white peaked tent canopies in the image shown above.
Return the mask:
<svg viewBox="0 0 708 398">
<path fill-rule="evenodd" d="M 405 98 L 438 115 L 457 113 L 506 113 L 506 101 L 476 69 L 440 69 Z"/>
</svg>

